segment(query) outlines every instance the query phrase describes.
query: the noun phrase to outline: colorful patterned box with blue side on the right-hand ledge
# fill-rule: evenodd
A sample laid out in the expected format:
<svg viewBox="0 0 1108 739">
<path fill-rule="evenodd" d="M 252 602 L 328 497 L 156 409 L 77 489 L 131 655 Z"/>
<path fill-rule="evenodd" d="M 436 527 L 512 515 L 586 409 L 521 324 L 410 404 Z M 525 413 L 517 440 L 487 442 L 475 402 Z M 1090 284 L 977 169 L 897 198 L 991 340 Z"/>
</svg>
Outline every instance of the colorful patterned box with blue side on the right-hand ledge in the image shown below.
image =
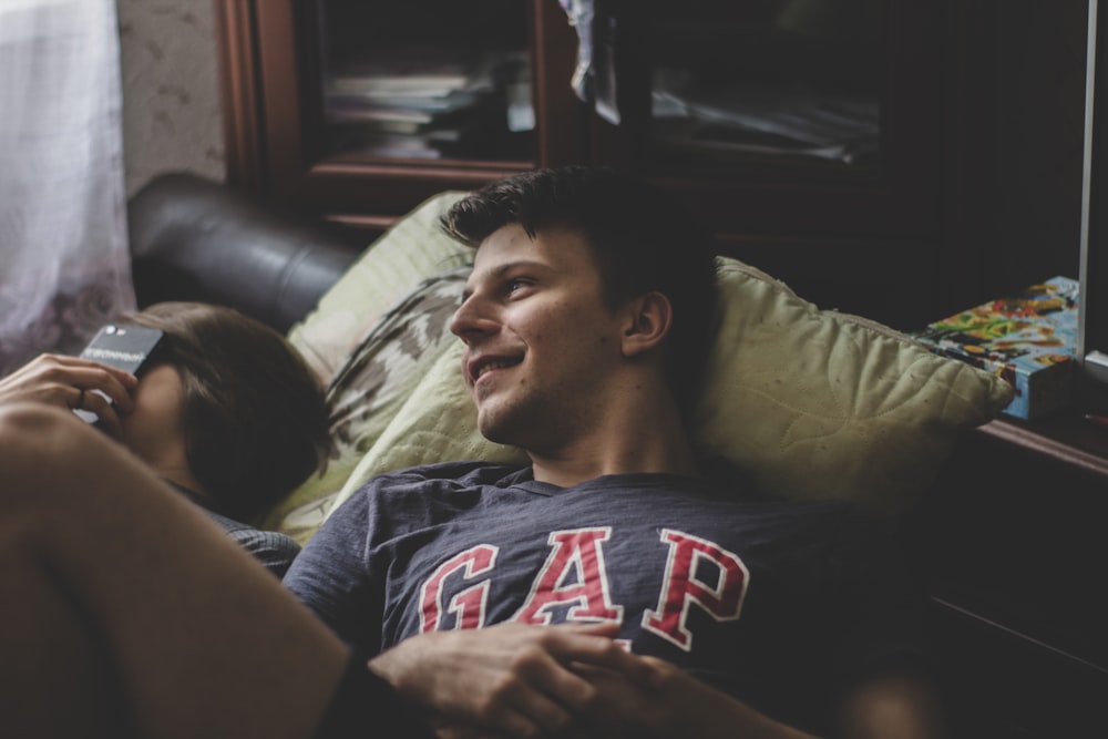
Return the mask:
<svg viewBox="0 0 1108 739">
<path fill-rule="evenodd" d="M 1078 287 L 1076 279 L 1053 277 L 930 324 L 913 338 L 1003 377 L 1016 390 L 1004 412 L 1035 419 L 1073 398 Z"/>
</svg>

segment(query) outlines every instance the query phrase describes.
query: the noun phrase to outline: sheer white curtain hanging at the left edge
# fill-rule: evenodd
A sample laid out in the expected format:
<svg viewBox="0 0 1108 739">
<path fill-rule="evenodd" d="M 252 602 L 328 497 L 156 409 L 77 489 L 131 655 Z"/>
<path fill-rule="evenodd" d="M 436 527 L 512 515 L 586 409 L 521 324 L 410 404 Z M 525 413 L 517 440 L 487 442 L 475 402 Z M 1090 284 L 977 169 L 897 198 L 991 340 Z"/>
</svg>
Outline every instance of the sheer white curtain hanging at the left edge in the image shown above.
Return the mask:
<svg viewBox="0 0 1108 739">
<path fill-rule="evenodd" d="M 134 307 L 115 0 L 0 0 L 0 373 Z"/>
</svg>

